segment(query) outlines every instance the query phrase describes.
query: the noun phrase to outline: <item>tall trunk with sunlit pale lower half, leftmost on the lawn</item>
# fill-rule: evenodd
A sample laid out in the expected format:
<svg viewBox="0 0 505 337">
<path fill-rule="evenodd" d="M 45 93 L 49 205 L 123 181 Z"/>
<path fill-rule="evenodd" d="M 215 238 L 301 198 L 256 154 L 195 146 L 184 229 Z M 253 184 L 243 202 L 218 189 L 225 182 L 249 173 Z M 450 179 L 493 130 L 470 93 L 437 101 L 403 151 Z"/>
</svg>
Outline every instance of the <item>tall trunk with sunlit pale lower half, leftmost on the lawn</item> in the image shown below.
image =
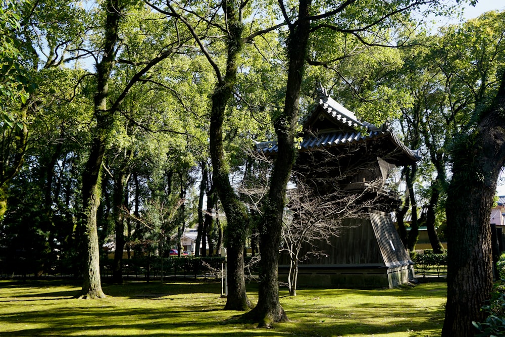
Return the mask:
<svg viewBox="0 0 505 337">
<path fill-rule="evenodd" d="M 84 211 L 84 235 L 86 244 L 84 282 L 80 297 L 104 298 L 100 282 L 99 246 L 96 230 L 96 212 L 100 203 L 99 177 L 114 115 L 107 110 L 109 77 L 116 58 L 116 43 L 119 41 L 118 26 L 121 18 L 119 0 L 108 0 L 105 4 L 104 56 L 96 65 L 96 94 L 94 110 L 96 127 L 89 158 L 82 174 L 82 198 Z"/>
</svg>

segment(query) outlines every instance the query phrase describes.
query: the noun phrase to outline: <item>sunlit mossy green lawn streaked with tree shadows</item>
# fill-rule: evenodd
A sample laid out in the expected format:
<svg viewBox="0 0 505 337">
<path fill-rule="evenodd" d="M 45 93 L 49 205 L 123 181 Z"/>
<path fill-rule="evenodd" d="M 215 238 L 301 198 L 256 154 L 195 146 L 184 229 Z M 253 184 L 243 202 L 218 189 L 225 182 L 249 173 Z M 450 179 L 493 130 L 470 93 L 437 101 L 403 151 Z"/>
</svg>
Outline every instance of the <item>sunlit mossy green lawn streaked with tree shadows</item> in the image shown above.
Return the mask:
<svg viewBox="0 0 505 337">
<path fill-rule="evenodd" d="M 0 335 L 21 336 L 439 336 L 446 286 L 403 290 L 308 289 L 281 303 L 290 322 L 272 329 L 227 320 L 220 283 L 103 285 L 102 300 L 76 300 L 79 284 L 0 281 Z M 256 290 L 248 293 L 256 301 Z"/>
</svg>

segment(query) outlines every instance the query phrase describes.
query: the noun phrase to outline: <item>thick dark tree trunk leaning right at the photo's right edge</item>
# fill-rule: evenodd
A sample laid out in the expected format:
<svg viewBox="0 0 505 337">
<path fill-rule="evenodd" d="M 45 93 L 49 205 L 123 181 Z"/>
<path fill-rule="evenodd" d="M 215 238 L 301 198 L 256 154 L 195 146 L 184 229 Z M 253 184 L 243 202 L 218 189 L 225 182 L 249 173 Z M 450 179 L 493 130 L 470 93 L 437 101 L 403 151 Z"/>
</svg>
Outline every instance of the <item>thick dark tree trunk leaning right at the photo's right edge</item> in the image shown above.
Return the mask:
<svg viewBox="0 0 505 337">
<path fill-rule="evenodd" d="M 470 337 L 492 291 L 489 213 L 505 164 L 505 72 L 490 109 L 452 151 L 447 191 L 447 305 L 442 336 Z"/>
</svg>

